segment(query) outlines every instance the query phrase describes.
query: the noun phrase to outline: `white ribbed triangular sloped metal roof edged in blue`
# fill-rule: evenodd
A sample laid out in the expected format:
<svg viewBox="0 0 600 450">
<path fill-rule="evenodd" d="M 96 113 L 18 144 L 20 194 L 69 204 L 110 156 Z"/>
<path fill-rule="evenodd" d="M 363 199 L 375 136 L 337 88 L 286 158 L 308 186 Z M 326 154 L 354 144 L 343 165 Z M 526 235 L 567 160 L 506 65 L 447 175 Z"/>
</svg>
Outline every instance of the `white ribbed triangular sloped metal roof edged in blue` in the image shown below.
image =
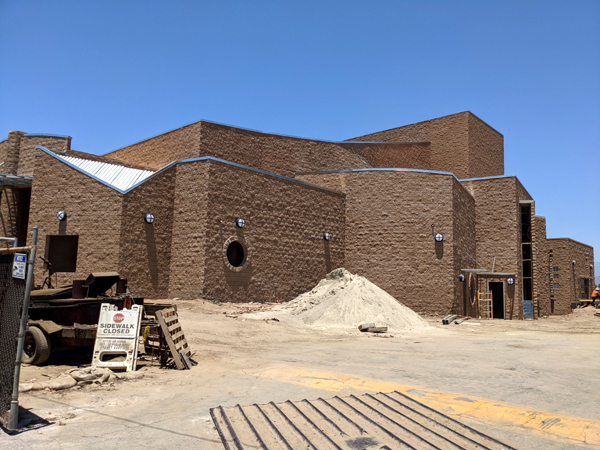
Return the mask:
<svg viewBox="0 0 600 450">
<path fill-rule="evenodd" d="M 151 175 L 154 175 L 154 172 L 151 170 L 132 169 L 118 164 L 91 161 L 89 159 L 74 158 L 72 156 L 56 156 L 121 191 L 126 191 L 130 187 L 135 186 Z"/>
</svg>

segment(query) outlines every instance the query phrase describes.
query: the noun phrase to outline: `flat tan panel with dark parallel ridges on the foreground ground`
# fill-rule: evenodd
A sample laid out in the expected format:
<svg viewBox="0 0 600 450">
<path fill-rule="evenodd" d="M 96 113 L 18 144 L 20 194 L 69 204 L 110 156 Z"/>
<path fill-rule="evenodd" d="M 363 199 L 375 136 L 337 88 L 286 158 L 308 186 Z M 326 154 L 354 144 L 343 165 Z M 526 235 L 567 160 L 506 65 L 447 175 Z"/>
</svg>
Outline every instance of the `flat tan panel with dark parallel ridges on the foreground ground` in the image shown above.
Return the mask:
<svg viewBox="0 0 600 450">
<path fill-rule="evenodd" d="M 226 450 L 513 449 L 399 392 L 219 406 L 210 414 Z"/>
</svg>

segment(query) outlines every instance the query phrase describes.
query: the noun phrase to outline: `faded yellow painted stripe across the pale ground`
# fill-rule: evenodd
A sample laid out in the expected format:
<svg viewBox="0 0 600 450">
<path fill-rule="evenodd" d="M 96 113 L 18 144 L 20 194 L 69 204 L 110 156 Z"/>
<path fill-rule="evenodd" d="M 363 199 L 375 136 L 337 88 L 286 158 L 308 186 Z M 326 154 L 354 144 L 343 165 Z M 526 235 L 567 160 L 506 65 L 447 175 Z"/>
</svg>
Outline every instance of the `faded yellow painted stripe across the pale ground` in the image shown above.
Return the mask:
<svg viewBox="0 0 600 450">
<path fill-rule="evenodd" d="M 554 441 L 600 448 L 600 420 L 583 419 L 486 398 L 433 391 L 373 378 L 302 370 L 288 366 L 271 367 L 253 375 L 332 392 L 398 391 L 452 417 L 458 416 L 473 422 L 508 428 L 521 433 L 532 433 Z"/>
</svg>

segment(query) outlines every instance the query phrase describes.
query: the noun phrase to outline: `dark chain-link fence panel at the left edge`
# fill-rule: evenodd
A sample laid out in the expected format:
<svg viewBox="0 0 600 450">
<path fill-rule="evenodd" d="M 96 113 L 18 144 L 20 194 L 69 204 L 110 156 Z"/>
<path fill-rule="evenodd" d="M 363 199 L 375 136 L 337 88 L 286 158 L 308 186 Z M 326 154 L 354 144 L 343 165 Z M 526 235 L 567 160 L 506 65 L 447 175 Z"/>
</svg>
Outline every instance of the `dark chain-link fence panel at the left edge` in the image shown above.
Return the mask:
<svg viewBox="0 0 600 450">
<path fill-rule="evenodd" d="M 0 419 L 10 410 L 25 280 L 13 278 L 14 254 L 0 253 Z"/>
</svg>

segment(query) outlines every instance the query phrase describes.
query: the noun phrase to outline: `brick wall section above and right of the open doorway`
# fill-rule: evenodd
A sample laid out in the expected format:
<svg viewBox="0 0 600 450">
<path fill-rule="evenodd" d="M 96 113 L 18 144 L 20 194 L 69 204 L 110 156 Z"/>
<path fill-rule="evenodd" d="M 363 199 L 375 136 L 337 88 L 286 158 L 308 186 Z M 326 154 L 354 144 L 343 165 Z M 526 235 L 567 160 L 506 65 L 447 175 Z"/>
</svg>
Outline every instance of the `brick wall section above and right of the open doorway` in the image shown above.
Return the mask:
<svg viewBox="0 0 600 450">
<path fill-rule="evenodd" d="M 520 319 L 523 317 L 523 282 L 517 179 L 492 178 L 462 184 L 475 199 L 477 262 L 487 271 L 494 267 L 495 272 L 515 274 L 515 284 L 506 287 L 505 318 Z M 485 289 L 483 285 L 479 288 Z"/>
</svg>

